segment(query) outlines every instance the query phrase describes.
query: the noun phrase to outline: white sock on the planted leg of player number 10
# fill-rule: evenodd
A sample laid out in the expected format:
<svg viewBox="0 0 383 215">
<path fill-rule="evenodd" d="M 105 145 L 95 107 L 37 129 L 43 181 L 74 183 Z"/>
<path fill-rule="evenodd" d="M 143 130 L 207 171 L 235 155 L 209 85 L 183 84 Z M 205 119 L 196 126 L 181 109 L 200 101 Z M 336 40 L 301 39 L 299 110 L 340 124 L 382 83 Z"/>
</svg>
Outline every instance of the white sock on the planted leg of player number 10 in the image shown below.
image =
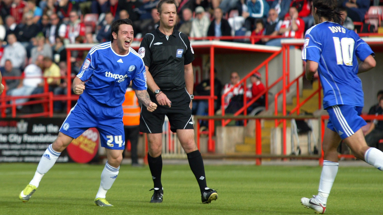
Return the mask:
<svg viewBox="0 0 383 215">
<path fill-rule="evenodd" d="M 321 180 L 319 181 L 318 195 L 316 199 L 327 204 L 327 198 L 330 195 L 332 184 L 334 184 L 336 174 L 338 173 L 339 163 L 332 161 L 323 161 Z"/>
</svg>

